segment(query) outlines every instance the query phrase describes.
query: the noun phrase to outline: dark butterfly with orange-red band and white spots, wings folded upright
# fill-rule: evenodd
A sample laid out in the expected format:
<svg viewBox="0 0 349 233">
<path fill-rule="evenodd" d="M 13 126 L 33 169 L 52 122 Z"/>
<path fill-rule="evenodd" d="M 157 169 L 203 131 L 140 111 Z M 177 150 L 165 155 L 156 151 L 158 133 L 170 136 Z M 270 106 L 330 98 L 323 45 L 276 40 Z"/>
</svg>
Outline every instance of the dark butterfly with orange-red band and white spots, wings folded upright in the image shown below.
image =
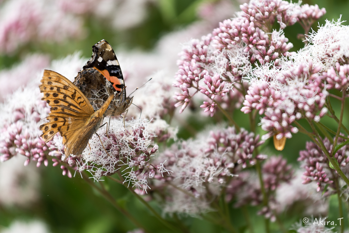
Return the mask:
<svg viewBox="0 0 349 233">
<path fill-rule="evenodd" d="M 126 97 L 124 76 L 113 48 L 106 40 L 92 46 L 92 57 L 77 74 L 74 84 L 81 90 L 97 111 L 114 94 L 116 98 L 105 111 L 105 116 L 118 116 L 132 104 Z"/>
</svg>

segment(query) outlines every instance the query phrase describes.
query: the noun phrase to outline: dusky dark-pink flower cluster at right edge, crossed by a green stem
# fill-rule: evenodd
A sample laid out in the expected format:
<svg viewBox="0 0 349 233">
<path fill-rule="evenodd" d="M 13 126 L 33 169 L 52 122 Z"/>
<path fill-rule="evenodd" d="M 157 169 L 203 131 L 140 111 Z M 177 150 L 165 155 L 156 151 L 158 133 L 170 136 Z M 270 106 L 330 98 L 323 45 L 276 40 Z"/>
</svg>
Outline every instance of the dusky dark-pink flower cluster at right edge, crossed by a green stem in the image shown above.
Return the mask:
<svg viewBox="0 0 349 233">
<path fill-rule="evenodd" d="M 344 140 L 338 138 L 337 144 L 342 143 Z M 333 150 L 333 143 L 331 143 L 327 138 L 322 140 L 326 150 L 331 153 Z M 334 180 L 339 177 L 336 170 L 329 167 L 329 160 L 326 157 L 324 151 L 322 151 L 315 143 L 307 142 L 305 146 L 306 150 L 299 152 L 298 161 L 303 161 L 302 167 L 305 169 L 303 173 L 304 181 L 303 183 L 310 183 L 312 181 L 317 182 L 317 191 L 323 190 L 325 185 L 333 184 Z M 334 155 L 342 171 L 345 172 L 348 169 L 343 169 L 347 167 L 349 163 L 349 157 L 346 152 L 349 150 L 349 146 L 345 145 L 340 148 Z M 348 174 L 346 174 L 348 175 Z M 334 185 L 334 184 L 333 184 Z M 332 187 L 336 189 L 336 187 Z"/>
</svg>

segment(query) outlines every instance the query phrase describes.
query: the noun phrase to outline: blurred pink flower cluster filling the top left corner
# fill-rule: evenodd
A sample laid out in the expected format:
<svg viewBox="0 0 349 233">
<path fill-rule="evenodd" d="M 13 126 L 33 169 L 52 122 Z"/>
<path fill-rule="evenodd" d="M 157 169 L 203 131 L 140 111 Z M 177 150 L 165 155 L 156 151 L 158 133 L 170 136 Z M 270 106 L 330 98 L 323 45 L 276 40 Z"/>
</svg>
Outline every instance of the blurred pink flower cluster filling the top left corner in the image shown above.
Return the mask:
<svg viewBox="0 0 349 233">
<path fill-rule="evenodd" d="M 0 51 L 14 53 L 35 40 L 61 42 L 83 35 L 82 21 L 62 12 L 54 2 L 12 0 L 0 4 Z"/>
</svg>

